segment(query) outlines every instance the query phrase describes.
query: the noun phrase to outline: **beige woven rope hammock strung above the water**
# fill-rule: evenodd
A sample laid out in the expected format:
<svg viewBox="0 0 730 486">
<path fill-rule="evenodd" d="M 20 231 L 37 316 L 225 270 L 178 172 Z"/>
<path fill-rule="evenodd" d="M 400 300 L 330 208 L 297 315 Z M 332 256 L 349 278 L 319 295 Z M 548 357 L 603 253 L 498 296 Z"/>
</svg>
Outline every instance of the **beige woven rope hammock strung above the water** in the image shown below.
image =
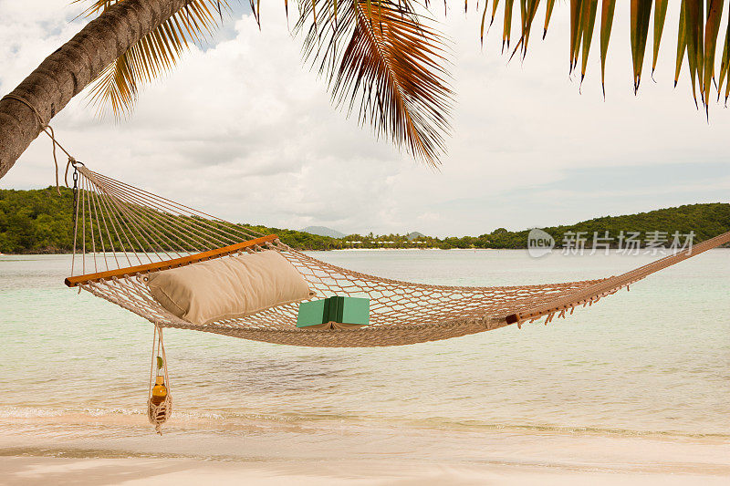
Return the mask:
<svg viewBox="0 0 730 486">
<path fill-rule="evenodd" d="M 637 282 L 695 254 L 730 242 L 730 233 L 616 276 L 560 284 L 466 287 L 414 284 L 353 272 L 321 262 L 274 234 L 224 222 L 204 212 L 89 171 L 73 163 L 74 253 L 68 286 L 78 286 L 164 327 L 297 346 L 397 346 L 464 336 L 572 314 L 578 305 Z M 297 328 L 297 303 L 192 325 L 151 295 L 145 275 L 240 253 L 275 251 L 294 265 L 310 289 L 370 298 L 370 326 Z M 80 292 L 80 290 L 79 290 Z"/>
</svg>

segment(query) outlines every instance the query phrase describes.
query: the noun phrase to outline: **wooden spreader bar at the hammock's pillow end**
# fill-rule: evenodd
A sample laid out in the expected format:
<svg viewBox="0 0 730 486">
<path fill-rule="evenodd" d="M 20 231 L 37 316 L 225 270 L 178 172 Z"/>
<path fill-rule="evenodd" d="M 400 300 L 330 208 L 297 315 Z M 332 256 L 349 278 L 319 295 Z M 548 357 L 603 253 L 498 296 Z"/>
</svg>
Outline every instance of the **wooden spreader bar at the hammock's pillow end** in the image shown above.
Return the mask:
<svg viewBox="0 0 730 486">
<path fill-rule="evenodd" d="M 78 284 L 85 284 L 87 282 L 101 282 L 103 280 L 111 280 L 114 277 L 121 277 L 124 275 L 149 274 L 150 272 L 157 272 L 160 270 L 167 270 L 170 268 L 177 268 L 179 266 L 195 264 L 197 262 L 204 262 L 205 260 L 211 260 L 213 258 L 220 258 L 221 256 L 240 252 L 245 248 L 251 248 L 252 246 L 260 245 L 263 243 L 272 243 L 275 242 L 277 239 L 278 236 L 276 236 L 276 234 L 269 234 L 267 236 L 262 236 L 261 238 L 256 238 L 255 240 L 248 240 L 241 243 L 230 244 L 222 248 L 216 248 L 215 250 L 209 250 L 202 253 L 194 253 L 188 256 L 183 256 L 181 258 L 165 260 L 164 262 L 128 266 L 125 268 L 109 270 L 107 272 L 99 272 L 96 274 L 70 276 L 66 280 L 64 280 L 64 284 L 67 284 L 67 286 L 69 287 L 75 287 Z"/>
</svg>

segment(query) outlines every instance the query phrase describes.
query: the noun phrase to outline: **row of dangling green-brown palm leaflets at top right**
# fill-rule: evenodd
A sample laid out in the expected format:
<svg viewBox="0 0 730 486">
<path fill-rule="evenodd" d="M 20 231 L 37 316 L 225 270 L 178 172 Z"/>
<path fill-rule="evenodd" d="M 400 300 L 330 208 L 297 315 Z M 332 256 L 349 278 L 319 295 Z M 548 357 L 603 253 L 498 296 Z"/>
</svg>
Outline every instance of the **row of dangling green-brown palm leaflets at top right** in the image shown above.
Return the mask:
<svg viewBox="0 0 730 486">
<path fill-rule="evenodd" d="M 543 38 L 547 34 L 550 17 L 555 6 L 554 0 L 539 2 L 539 0 L 521 0 L 520 13 L 522 18 L 522 33 L 517 45 L 522 49 L 523 57 L 527 54 L 527 39 L 533 26 L 532 18 L 536 15 L 537 5 L 545 5 L 545 26 L 543 27 Z M 570 17 L 568 70 L 572 73 L 581 61 L 581 81 L 586 75 L 588 66 L 589 49 L 594 34 L 594 24 L 598 11 L 598 0 L 569 0 L 568 15 Z M 652 74 L 657 66 L 659 51 L 662 44 L 662 34 L 667 16 L 668 0 L 630 0 L 619 2 L 619 5 L 626 5 L 630 9 L 631 26 L 629 29 L 631 38 L 628 39 L 631 45 L 631 67 L 634 91 L 638 91 L 641 84 L 641 72 L 645 62 L 646 47 L 649 44 L 649 30 L 652 24 L 653 11 L 653 39 L 652 39 Z M 485 17 L 487 11 L 491 13 L 494 21 L 498 8 L 504 10 L 504 25 L 502 29 L 503 43 L 509 42 L 512 22 L 513 2 L 493 1 L 492 5 L 485 2 L 483 5 L 482 25 L 480 27 L 480 42 L 485 44 Z M 725 0 L 682 0 L 680 4 L 680 21 L 677 33 L 677 54 L 676 67 L 674 69 L 674 86 L 676 86 L 683 65 L 687 66 L 690 85 L 695 104 L 697 95 L 708 109 L 713 84 L 717 91 L 717 98 L 725 94 L 725 102 L 730 95 L 730 12 L 723 16 Z M 600 78 L 601 86 L 605 96 L 606 64 L 609 55 L 609 41 L 613 28 L 613 16 L 616 8 L 616 0 L 601 0 L 600 2 Z M 533 10 L 534 9 L 534 10 Z M 725 20 L 723 20 L 725 18 Z M 723 22 L 725 21 L 725 25 Z M 490 24 L 491 25 L 491 24 Z M 718 57 L 718 37 L 721 30 L 725 30 L 725 40 L 722 44 L 723 53 Z M 517 50 L 515 48 L 515 52 Z M 515 52 L 512 53 L 514 56 Z M 718 62 L 719 61 L 719 62 Z M 719 67 L 718 67 L 719 64 Z M 715 80 L 717 82 L 715 83 Z"/>
</svg>

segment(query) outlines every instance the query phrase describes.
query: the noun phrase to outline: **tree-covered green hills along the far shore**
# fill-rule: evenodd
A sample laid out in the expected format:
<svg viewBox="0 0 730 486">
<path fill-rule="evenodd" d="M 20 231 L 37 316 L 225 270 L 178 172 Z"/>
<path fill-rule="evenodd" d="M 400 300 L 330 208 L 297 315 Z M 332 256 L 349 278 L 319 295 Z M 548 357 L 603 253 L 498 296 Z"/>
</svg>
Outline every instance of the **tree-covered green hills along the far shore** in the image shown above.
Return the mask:
<svg viewBox="0 0 730 486">
<path fill-rule="evenodd" d="M 73 247 L 71 231 L 72 192 L 55 187 L 32 191 L 0 190 L 0 253 L 68 253 Z M 259 233 L 276 233 L 284 243 L 298 250 L 359 248 L 525 248 L 528 230 L 510 232 L 498 228 L 492 233 L 461 238 L 433 238 L 418 234 L 350 234 L 331 238 L 317 234 L 243 224 Z M 651 232 L 694 232 L 694 243 L 730 231 L 730 204 L 689 204 L 625 216 L 605 216 L 576 224 L 543 228 L 560 246 L 568 232 L 582 233 L 590 247 L 593 234 L 608 232 L 618 243 L 621 232 L 638 232 L 641 241 Z M 415 236 L 415 238 L 413 238 Z M 409 239 L 411 237 L 411 239 Z M 350 243 L 358 242 L 358 243 Z"/>
</svg>

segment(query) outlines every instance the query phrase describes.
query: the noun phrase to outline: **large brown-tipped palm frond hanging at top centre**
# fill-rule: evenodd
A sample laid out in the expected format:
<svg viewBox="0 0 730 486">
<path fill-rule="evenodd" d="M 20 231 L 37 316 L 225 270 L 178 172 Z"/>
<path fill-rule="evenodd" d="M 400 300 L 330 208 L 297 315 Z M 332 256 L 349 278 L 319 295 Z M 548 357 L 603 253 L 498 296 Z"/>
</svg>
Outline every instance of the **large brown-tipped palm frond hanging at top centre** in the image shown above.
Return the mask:
<svg viewBox="0 0 730 486">
<path fill-rule="evenodd" d="M 306 32 L 305 55 L 335 104 L 351 112 L 359 101 L 360 123 L 436 165 L 452 91 L 443 38 L 417 7 L 409 0 L 303 1 L 296 28 Z"/>
</svg>

